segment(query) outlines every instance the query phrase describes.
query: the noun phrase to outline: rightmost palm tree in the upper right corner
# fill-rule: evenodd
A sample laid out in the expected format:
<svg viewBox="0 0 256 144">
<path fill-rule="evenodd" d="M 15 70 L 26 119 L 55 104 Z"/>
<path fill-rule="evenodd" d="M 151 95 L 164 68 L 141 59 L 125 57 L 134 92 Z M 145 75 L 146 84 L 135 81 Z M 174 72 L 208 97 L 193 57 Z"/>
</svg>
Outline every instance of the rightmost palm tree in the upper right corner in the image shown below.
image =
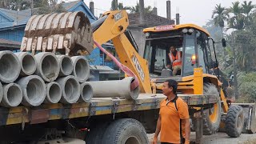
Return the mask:
<svg viewBox="0 0 256 144">
<path fill-rule="evenodd" d="M 249 25 L 249 23 L 252 21 L 252 17 L 251 17 L 251 14 L 252 14 L 252 11 L 254 10 L 255 6 L 252 5 L 252 2 L 246 2 L 244 1 L 242 3 L 242 12 L 243 14 L 246 15 L 246 18 L 245 18 L 245 24 L 246 25 Z"/>
</svg>

